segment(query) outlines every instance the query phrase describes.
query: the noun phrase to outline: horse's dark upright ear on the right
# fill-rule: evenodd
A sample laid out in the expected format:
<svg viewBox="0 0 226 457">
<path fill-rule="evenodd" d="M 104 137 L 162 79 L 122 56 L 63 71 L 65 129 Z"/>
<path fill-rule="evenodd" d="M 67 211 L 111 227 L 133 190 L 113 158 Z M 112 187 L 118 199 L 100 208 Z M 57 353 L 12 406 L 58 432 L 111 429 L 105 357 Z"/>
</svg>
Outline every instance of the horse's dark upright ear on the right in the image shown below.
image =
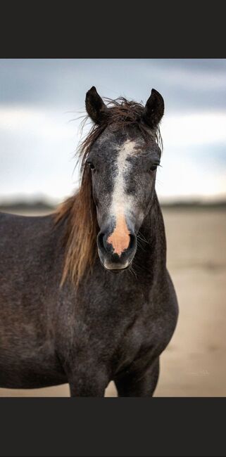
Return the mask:
<svg viewBox="0 0 226 457">
<path fill-rule="evenodd" d="M 164 114 L 164 100 L 156 89 L 151 89 L 151 95 L 146 102 L 143 114 L 144 122 L 152 129 L 157 127 Z"/>
</svg>

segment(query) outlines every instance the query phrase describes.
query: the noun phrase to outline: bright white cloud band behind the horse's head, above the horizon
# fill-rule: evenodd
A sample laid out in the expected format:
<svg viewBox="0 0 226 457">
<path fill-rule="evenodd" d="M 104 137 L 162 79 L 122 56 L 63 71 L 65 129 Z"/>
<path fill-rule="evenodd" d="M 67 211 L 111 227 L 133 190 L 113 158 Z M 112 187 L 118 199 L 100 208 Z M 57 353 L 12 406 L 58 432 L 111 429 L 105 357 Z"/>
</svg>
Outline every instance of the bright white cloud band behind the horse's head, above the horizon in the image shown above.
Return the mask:
<svg viewBox="0 0 226 457">
<path fill-rule="evenodd" d="M 78 185 L 73 155 L 80 120 L 70 118 L 70 113 L 49 109 L 0 108 L 1 195 L 44 193 L 62 200 L 72 193 Z M 226 112 L 165 117 L 157 179 L 161 198 L 226 193 L 225 125 Z"/>
</svg>

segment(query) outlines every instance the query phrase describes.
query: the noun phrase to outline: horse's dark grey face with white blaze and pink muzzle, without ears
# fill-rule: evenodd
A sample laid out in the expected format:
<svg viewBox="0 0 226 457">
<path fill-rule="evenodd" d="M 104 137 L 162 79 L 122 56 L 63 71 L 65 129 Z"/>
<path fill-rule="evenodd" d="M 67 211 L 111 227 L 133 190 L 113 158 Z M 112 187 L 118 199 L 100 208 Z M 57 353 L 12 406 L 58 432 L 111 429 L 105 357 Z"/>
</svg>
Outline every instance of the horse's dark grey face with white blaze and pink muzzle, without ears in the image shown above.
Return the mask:
<svg viewBox="0 0 226 457">
<path fill-rule="evenodd" d="M 152 137 L 153 138 L 153 137 Z M 137 250 L 137 231 L 148 214 L 161 150 L 144 140 L 139 129 L 106 127 L 87 157 L 99 224 L 101 264 L 111 271 L 126 269 Z"/>
</svg>

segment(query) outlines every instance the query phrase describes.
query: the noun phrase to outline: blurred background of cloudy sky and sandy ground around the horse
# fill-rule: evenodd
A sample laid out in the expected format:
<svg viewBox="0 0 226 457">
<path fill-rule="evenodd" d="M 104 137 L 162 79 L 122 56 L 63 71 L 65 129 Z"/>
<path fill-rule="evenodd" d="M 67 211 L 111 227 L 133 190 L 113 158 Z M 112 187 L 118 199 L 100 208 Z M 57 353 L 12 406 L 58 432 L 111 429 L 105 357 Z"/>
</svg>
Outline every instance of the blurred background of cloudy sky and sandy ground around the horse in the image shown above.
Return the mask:
<svg viewBox="0 0 226 457">
<path fill-rule="evenodd" d="M 0 60 L 0 210 L 51 212 L 78 186 L 84 97 L 165 100 L 156 190 L 180 318 L 156 397 L 226 396 L 226 60 Z M 82 137 L 81 137 L 82 135 Z M 1 253 L 0 253 L 1 255 Z M 68 396 L 68 385 L 0 396 Z M 106 396 L 115 396 L 113 383 Z"/>
</svg>

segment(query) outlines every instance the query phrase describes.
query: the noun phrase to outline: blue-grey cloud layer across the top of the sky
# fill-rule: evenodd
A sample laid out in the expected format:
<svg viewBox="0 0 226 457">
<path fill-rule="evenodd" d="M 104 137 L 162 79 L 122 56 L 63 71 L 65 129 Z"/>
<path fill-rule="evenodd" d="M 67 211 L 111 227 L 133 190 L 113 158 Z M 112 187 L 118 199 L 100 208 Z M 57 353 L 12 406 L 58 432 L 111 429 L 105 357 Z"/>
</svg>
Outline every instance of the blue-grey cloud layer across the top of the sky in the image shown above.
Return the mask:
<svg viewBox="0 0 226 457">
<path fill-rule="evenodd" d="M 166 112 L 225 108 L 224 59 L 20 59 L 0 61 L 0 103 L 84 106 L 93 85 L 102 96 L 137 101 L 154 87 Z"/>
</svg>

